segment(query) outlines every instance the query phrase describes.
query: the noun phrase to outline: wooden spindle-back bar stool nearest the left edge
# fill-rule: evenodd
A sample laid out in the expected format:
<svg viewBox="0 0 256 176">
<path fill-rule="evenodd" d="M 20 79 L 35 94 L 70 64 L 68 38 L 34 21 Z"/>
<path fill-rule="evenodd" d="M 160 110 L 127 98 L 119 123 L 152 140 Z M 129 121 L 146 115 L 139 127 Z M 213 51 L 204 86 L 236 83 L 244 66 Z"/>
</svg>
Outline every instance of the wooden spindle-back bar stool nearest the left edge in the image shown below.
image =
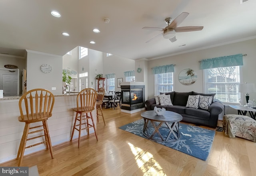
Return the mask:
<svg viewBox="0 0 256 176">
<path fill-rule="evenodd" d="M 52 109 L 54 106 L 54 95 L 46 89 L 32 89 L 20 98 L 19 109 L 20 117 L 18 120 L 25 123 L 23 135 L 18 149 L 17 160 L 19 159 L 18 166 L 21 166 L 24 151 L 39 144 L 46 143 L 46 148 L 50 149 L 52 159 L 54 158 L 52 152 L 52 142 L 47 125 L 47 119 L 52 117 Z M 38 124 L 42 122 L 42 125 Z M 30 127 L 30 124 L 37 123 L 36 126 Z M 29 138 L 28 138 L 29 137 Z M 43 142 L 26 146 L 28 140 L 43 137 Z"/>
</svg>

